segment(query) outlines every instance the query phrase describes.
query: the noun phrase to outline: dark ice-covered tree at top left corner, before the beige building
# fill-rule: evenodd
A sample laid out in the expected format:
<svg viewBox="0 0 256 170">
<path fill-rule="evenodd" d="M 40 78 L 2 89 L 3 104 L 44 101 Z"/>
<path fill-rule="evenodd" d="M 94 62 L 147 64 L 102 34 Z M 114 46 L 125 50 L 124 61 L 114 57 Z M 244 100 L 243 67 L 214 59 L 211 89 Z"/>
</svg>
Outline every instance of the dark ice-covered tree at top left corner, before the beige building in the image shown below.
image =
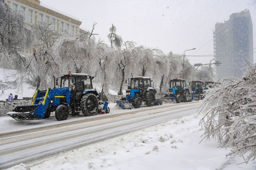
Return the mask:
<svg viewBox="0 0 256 170">
<path fill-rule="evenodd" d="M 0 43 L 8 53 L 7 56 L 1 55 L 0 60 L 9 61 L 6 57 L 10 57 L 12 60 L 19 60 L 16 63 L 23 62 L 18 51 L 26 48 L 32 49 L 33 34 L 23 21 L 22 11 L 14 11 L 3 0 L 0 0 Z M 12 67 L 12 62 L 3 63 L 2 61 L 1 63 L 2 67 Z"/>
</svg>

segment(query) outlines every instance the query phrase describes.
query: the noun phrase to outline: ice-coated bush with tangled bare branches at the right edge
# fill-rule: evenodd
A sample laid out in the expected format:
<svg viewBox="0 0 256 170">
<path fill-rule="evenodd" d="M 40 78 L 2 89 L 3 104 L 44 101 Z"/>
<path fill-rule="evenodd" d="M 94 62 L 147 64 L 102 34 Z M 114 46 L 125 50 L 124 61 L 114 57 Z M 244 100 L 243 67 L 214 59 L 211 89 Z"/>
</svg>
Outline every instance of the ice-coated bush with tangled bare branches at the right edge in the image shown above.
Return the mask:
<svg viewBox="0 0 256 170">
<path fill-rule="evenodd" d="M 217 138 L 245 163 L 256 156 L 256 64 L 248 64 L 242 79 L 226 79 L 207 91 L 200 121 L 204 139 Z"/>
</svg>

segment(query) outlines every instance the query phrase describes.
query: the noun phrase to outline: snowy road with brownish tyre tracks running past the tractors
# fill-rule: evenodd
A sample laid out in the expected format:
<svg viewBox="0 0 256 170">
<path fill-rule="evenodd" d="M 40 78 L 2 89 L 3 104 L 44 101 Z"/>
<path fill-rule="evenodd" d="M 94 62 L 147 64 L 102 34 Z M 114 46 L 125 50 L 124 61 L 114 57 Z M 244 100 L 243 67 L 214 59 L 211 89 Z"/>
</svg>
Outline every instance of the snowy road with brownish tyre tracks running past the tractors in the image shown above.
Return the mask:
<svg viewBox="0 0 256 170">
<path fill-rule="evenodd" d="M 194 114 L 201 102 L 180 103 L 98 115 L 90 119 L 0 134 L 0 169 L 32 163 L 89 143 Z M 122 110 L 121 110 L 122 111 Z"/>
</svg>

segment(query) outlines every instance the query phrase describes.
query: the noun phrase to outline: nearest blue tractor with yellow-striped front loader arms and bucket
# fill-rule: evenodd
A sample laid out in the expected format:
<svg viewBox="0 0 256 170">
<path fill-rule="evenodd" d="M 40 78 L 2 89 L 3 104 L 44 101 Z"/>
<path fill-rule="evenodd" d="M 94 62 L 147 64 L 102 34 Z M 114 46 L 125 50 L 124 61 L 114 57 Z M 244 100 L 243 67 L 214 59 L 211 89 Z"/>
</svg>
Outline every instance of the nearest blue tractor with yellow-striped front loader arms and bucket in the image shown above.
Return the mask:
<svg viewBox="0 0 256 170">
<path fill-rule="evenodd" d="M 71 73 L 60 77 L 59 88 L 48 88 L 47 90 L 36 90 L 31 105 L 17 106 L 12 112 L 7 113 L 15 120 L 37 120 L 50 117 L 55 111 L 58 121 L 66 120 L 69 114 L 93 116 L 98 112 L 109 113 L 108 102 L 104 102 L 99 109 L 100 101 L 98 92 L 92 87 L 94 77 L 88 74 Z M 58 79 L 56 85 L 58 85 Z"/>
</svg>

